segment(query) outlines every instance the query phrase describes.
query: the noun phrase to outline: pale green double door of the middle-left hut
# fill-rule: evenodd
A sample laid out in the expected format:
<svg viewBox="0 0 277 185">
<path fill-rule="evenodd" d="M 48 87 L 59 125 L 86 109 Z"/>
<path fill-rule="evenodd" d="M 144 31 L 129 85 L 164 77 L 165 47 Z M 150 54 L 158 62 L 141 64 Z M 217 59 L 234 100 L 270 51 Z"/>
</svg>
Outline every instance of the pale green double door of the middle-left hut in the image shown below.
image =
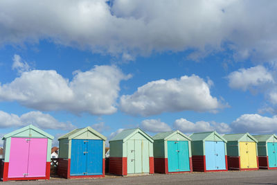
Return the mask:
<svg viewBox="0 0 277 185">
<path fill-rule="evenodd" d="M 149 173 L 149 141 L 127 141 L 127 173 Z"/>
</svg>

